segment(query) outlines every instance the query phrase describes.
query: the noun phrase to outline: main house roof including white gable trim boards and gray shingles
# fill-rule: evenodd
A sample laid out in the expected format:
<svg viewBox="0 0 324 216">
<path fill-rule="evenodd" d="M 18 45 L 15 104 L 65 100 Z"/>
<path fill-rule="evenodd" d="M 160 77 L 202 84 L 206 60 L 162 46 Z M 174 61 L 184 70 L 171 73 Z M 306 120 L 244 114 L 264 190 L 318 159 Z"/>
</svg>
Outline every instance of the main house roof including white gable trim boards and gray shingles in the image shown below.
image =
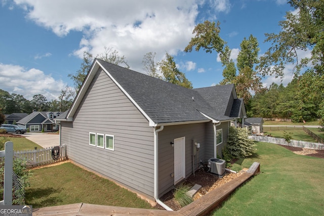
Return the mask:
<svg viewBox="0 0 324 216">
<path fill-rule="evenodd" d="M 150 125 L 184 121 L 230 120 L 229 114 L 219 112 L 199 91 L 186 89 L 143 73 L 95 59 L 86 79 L 74 100 L 66 120 L 73 115 L 85 96 L 98 70 L 104 70 L 119 89 L 149 120 Z M 233 85 L 224 88 L 226 97 L 231 95 Z M 235 92 L 235 90 L 234 90 Z M 223 93 L 222 93 L 223 94 Z M 236 97 L 236 94 L 235 94 Z M 63 116 L 60 116 L 60 119 Z"/>
</svg>

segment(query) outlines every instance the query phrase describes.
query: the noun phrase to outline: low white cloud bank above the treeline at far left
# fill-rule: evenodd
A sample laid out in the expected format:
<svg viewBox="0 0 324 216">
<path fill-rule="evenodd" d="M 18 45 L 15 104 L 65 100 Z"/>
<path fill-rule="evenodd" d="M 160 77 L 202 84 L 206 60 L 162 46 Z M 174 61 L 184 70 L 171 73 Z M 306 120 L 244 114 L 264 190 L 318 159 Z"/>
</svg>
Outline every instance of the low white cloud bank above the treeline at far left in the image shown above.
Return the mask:
<svg viewBox="0 0 324 216">
<path fill-rule="evenodd" d="M 41 70 L 29 69 L 19 65 L 0 63 L 1 89 L 10 94 L 23 95 L 31 100 L 33 95 L 42 94 L 48 101 L 57 99 L 61 89 L 66 86 L 62 80 L 55 80 L 51 75 L 45 75 Z"/>
</svg>

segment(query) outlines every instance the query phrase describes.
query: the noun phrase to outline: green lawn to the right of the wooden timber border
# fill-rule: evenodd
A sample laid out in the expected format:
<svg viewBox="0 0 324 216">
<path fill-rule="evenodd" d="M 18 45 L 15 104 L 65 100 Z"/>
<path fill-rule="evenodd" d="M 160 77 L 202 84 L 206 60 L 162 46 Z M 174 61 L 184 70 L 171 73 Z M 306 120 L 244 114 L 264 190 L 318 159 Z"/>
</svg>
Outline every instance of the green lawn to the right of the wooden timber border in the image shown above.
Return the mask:
<svg viewBox="0 0 324 216">
<path fill-rule="evenodd" d="M 324 215 L 324 159 L 257 143 L 255 154 L 231 169 L 260 162 L 261 173 L 235 193 L 214 215 Z"/>
</svg>

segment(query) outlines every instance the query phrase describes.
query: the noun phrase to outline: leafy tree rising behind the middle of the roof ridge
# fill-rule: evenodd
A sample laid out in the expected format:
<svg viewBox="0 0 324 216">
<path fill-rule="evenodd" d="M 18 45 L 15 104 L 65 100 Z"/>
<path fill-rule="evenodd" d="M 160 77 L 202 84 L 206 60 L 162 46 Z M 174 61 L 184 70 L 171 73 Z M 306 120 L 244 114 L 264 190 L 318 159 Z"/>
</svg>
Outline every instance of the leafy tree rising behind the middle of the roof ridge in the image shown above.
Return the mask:
<svg viewBox="0 0 324 216">
<path fill-rule="evenodd" d="M 167 53 L 166 59 L 158 62 L 157 66 L 161 70 L 165 81 L 192 89 L 192 83 L 186 78 L 185 74 L 177 68 L 173 56 Z"/>
</svg>

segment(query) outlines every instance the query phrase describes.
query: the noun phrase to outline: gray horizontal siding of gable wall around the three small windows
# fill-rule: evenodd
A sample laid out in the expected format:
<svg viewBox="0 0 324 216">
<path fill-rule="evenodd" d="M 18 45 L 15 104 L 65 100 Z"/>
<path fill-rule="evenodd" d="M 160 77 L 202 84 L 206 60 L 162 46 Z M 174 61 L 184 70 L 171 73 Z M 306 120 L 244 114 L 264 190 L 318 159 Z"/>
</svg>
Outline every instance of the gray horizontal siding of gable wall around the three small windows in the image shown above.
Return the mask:
<svg viewBox="0 0 324 216">
<path fill-rule="evenodd" d="M 104 71 L 95 75 L 73 122 L 61 123 L 69 159 L 154 196 L 153 127 Z M 89 145 L 89 132 L 113 135 L 114 151 Z"/>
</svg>

